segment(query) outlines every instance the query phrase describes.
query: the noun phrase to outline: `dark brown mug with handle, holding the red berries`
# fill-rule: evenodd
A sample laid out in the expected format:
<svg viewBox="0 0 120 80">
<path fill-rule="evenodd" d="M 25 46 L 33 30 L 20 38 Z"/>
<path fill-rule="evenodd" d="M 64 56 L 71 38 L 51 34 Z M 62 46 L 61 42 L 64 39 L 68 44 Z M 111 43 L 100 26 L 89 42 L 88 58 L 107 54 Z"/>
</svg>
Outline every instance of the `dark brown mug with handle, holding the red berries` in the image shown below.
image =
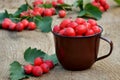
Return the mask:
<svg viewBox="0 0 120 80">
<path fill-rule="evenodd" d="M 100 33 L 84 37 L 67 37 L 53 32 L 56 55 L 63 68 L 73 71 L 85 70 L 96 61 L 111 54 L 113 43 L 111 40 L 101 37 L 103 28 L 100 28 Z M 110 51 L 107 55 L 97 58 L 100 39 L 109 43 Z"/>
</svg>

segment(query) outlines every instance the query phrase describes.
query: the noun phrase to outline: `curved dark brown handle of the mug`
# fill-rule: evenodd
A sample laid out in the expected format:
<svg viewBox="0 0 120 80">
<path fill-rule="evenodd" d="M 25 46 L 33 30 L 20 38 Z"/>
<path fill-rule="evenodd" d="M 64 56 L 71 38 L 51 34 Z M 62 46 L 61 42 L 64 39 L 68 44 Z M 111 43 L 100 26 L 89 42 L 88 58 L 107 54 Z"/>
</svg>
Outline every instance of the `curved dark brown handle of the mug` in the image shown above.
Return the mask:
<svg viewBox="0 0 120 80">
<path fill-rule="evenodd" d="M 111 40 L 109 40 L 107 38 L 104 38 L 104 37 L 100 37 L 100 39 L 102 39 L 102 40 L 104 40 L 104 41 L 106 41 L 106 42 L 109 43 L 109 45 L 110 45 L 110 51 L 109 51 L 109 53 L 107 55 L 104 55 L 104 56 L 101 56 L 101 57 L 97 58 L 96 61 L 104 59 L 104 58 L 110 56 L 110 54 L 112 53 L 112 50 L 113 50 L 113 42 Z"/>
</svg>

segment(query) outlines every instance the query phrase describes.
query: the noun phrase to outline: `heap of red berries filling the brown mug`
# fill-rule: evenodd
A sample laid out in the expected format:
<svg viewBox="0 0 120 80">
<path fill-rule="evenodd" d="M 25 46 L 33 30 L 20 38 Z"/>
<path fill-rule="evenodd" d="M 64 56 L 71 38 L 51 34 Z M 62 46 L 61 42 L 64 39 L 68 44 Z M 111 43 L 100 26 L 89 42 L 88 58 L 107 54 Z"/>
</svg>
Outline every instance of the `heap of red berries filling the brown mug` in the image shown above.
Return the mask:
<svg viewBox="0 0 120 80">
<path fill-rule="evenodd" d="M 60 25 L 55 25 L 53 32 L 63 36 L 91 36 L 101 32 L 101 28 L 93 19 L 65 19 Z"/>
</svg>

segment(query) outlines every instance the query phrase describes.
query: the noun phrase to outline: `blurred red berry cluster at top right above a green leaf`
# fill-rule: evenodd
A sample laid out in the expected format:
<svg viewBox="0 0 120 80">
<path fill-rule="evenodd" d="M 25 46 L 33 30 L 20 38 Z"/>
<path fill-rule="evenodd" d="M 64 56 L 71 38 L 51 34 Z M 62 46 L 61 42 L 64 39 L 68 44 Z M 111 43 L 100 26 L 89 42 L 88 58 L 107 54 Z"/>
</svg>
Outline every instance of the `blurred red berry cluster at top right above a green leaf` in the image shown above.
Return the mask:
<svg viewBox="0 0 120 80">
<path fill-rule="evenodd" d="M 106 0 L 94 0 L 92 5 L 98 7 L 102 12 L 105 12 L 109 9 L 109 4 Z"/>
</svg>

